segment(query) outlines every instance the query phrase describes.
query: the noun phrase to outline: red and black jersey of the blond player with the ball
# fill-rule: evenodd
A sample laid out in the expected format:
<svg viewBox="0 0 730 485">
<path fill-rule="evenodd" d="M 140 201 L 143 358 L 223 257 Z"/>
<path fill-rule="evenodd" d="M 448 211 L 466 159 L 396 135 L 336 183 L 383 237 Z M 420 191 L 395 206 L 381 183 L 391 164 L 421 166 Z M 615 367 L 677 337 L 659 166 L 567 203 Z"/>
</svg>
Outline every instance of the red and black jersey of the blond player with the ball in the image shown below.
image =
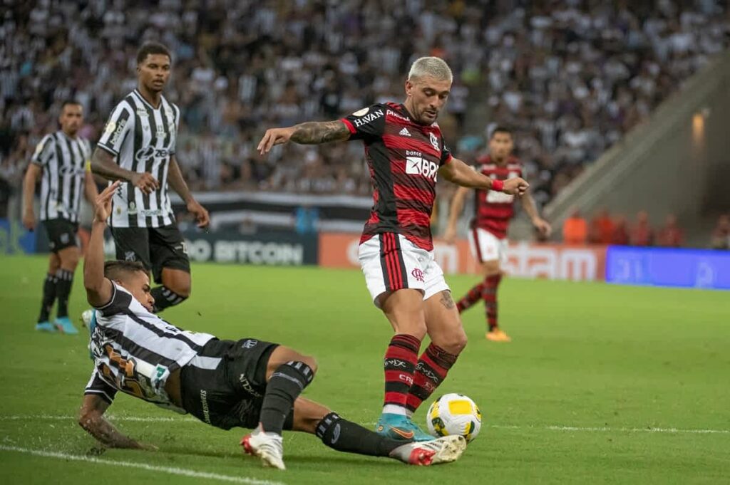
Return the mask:
<svg viewBox="0 0 730 485">
<path fill-rule="evenodd" d="M 431 251 L 431 211 L 439 168 L 451 161 L 437 123 L 420 125 L 402 104 L 374 104 L 342 118 L 351 140 L 362 140 L 373 206 L 361 243 L 399 233 Z"/>
</svg>

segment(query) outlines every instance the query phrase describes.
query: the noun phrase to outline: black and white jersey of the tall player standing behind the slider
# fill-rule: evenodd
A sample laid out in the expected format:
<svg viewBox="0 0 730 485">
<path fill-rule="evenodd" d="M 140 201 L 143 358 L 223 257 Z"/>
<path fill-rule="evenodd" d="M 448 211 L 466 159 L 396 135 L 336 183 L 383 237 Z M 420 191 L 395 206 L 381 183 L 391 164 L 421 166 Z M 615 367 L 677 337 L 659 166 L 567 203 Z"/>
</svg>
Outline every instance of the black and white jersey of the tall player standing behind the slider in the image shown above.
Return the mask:
<svg viewBox="0 0 730 485">
<path fill-rule="evenodd" d="M 154 108 L 134 90 L 112 110 L 99 147 L 117 158 L 121 168 L 149 172 L 160 188 L 145 194 L 126 182 L 112 199 L 114 228 L 159 228 L 174 223 L 167 186 L 170 157 L 175 152 L 180 109 L 164 96 Z"/>
</svg>

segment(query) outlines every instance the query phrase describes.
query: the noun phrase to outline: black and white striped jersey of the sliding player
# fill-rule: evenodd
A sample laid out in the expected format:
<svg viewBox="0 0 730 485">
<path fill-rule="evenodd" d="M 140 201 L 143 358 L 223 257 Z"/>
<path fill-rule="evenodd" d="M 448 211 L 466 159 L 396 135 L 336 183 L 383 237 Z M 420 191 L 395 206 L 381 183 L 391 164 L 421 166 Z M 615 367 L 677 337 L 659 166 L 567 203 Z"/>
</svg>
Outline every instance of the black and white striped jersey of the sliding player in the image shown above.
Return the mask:
<svg viewBox="0 0 730 485">
<path fill-rule="evenodd" d="M 220 358 L 199 355 L 215 336 L 188 332 L 150 313 L 131 293 L 112 282 L 109 303 L 96 309 L 89 349 L 94 370 L 85 394 L 112 403 L 117 391 L 185 413 L 165 391 L 170 373 L 184 365 L 215 369 Z"/>
</svg>

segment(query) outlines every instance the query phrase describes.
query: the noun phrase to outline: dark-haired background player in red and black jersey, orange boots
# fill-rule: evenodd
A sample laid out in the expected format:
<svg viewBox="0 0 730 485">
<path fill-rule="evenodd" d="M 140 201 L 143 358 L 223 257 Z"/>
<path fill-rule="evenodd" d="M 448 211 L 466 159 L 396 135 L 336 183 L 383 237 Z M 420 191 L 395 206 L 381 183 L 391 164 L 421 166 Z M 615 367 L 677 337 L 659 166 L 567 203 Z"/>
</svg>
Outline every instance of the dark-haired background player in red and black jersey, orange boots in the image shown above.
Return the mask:
<svg viewBox="0 0 730 485">
<path fill-rule="evenodd" d="M 477 159 L 475 171 L 494 180 L 519 179 L 522 176 L 520 160 L 512 156 L 512 132 L 498 127 L 489 139 L 489 154 Z M 456 222 L 464 198 L 469 189 L 459 187 L 451 203 L 449 224 L 444 238 L 453 242 L 456 237 Z M 532 196 L 520 196 L 522 206 L 532 220 L 535 228 L 544 236 L 550 234 L 550 225 L 539 217 Z M 488 331 L 486 338 L 496 342 L 509 342 L 510 337 L 497 325 L 497 287 L 502 281 L 502 268 L 507 257 L 507 228 L 515 214 L 515 196 L 494 190 L 475 190 L 475 215 L 469 230 L 469 245 L 472 255 L 482 265 L 484 279 L 456 303 L 458 311 L 464 311 L 479 300 L 484 301 Z"/>
</svg>

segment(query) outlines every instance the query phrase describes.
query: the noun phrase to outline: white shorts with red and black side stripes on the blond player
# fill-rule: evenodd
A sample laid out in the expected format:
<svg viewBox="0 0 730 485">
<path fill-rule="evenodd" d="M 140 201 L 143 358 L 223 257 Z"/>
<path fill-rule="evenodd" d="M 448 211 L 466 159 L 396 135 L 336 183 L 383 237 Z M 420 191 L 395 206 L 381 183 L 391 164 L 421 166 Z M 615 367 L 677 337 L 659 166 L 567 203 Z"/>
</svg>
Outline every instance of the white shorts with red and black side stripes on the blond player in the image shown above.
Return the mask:
<svg viewBox="0 0 730 485">
<path fill-rule="evenodd" d="M 428 300 L 449 290 L 434 252 L 421 249 L 401 234 L 383 233 L 369 238 L 358 247 L 358 259 L 375 306 L 379 307 L 377 297 L 385 292 L 412 288 Z"/>
</svg>

